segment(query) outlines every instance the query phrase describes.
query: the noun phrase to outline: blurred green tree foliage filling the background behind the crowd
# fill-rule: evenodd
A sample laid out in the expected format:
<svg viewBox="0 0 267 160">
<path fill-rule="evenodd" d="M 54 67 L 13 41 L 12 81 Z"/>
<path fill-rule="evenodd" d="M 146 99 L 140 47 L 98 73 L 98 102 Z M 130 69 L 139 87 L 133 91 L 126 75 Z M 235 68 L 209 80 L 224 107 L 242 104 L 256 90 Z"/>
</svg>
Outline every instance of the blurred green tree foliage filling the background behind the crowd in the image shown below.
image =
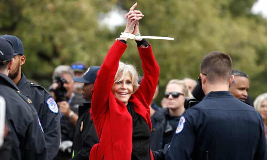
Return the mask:
<svg viewBox="0 0 267 160">
<path fill-rule="evenodd" d="M 23 72 L 39 83 L 51 83 L 60 64 L 84 61 L 101 65 L 108 49 L 124 26 L 110 31 L 99 25 L 99 14 L 114 5 L 128 10 L 135 1 L 16 0 L 0 2 L 0 33 L 13 34 L 24 44 Z M 175 41 L 149 40 L 160 66 L 160 95 L 170 79 L 199 76 L 203 56 L 220 50 L 230 54 L 233 69 L 250 76 L 250 95 L 266 92 L 267 22 L 252 15 L 255 0 L 138 1 L 145 17 L 140 32 L 148 36 L 174 37 Z M 122 15 L 123 16 L 123 15 Z M 136 44 L 128 40 L 122 57 L 137 66 Z"/>
</svg>

